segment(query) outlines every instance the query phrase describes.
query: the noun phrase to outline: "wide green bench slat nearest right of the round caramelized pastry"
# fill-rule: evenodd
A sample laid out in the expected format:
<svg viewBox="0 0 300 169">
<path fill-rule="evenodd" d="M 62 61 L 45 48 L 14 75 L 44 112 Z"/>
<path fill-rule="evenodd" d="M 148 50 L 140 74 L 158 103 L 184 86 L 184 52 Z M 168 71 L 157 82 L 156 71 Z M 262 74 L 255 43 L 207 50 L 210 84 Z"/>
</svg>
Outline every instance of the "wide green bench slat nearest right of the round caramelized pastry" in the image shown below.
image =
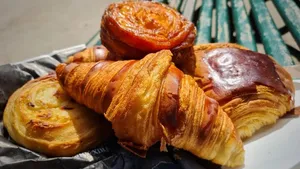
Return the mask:
<svg viewBox="0 0 300 169">
<path fill-rule="evenodd" d="M 213 6 L 214 0 L 205 0 L 202 2 L 202 7 L 199 11 L 199 18 L 197 21 L 196 44 L 209 43 L 211 41 Z"/>
</svg>

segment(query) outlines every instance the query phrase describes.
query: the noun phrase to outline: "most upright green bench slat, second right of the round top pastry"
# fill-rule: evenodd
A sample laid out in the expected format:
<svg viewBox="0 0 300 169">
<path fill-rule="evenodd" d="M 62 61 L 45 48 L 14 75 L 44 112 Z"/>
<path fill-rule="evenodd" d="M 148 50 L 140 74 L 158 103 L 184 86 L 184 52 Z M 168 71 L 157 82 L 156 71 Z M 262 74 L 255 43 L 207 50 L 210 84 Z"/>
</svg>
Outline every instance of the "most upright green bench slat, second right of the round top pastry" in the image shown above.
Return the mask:
<svg viewBox="0 0 300 169">
<path fill-rule="evenodd" d="M 216 0 L 217 9 L 217 42 L 230 42 L 230 28 L 227 0 Z"/>
</svg>

